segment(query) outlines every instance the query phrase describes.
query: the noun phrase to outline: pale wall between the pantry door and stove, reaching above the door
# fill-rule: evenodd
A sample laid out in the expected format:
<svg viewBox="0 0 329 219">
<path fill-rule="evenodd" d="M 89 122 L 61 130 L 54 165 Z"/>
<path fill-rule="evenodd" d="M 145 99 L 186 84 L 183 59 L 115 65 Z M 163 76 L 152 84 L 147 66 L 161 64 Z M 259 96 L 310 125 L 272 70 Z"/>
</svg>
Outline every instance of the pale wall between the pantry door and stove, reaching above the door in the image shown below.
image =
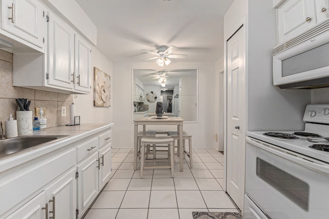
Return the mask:
<svg viewBox="0 0 329 219">
<path fill-rule="evenodd" d="M 272 1 L 235 0 L 224 16 L 225 40 L 243 20 L 247 33 L 247 130 L 301 130 L 308 90 L 281 90 L 272 82 L 276 11 Z"/>
</svg>

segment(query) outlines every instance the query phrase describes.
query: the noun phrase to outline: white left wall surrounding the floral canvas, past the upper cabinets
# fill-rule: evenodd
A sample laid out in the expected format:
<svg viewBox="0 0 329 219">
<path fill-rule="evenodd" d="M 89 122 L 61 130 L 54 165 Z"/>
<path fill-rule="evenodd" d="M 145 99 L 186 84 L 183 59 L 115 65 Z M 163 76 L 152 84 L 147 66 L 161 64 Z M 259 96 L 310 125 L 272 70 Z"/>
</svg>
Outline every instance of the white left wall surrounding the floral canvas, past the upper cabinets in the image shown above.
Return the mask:
<svg viewBox="0 0 329 219">
<path fill-rule="evenodd" d="M 113 64 L 96 47 L 93 47 L 90 66 L 93 68 L 92 74 L 90 75 L 90 80 L 92 82 L 92 92 L 90 94 L 76 95 L 77 98 L 74 98 L 76 115 L 80 115 L 81 123 L 113 123 Z M 111 76 L 110 107 L 94 107 L 94 67 L 97 67 L 98 69 Z"/>
</svg>

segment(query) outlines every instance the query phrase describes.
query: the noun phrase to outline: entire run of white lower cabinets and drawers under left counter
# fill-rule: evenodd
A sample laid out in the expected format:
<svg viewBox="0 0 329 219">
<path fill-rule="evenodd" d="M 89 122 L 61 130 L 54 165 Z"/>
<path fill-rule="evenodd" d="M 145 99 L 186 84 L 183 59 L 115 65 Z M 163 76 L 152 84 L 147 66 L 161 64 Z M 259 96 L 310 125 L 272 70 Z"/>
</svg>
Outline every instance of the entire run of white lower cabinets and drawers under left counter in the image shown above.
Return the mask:
<svg viewBox="0 0 329 219">
<path fill-rule="evenodd" d="M 0 172 L 0 218 L 81 218 L 109 180 L 111 152 L 108 128 Z"/>
</svg>

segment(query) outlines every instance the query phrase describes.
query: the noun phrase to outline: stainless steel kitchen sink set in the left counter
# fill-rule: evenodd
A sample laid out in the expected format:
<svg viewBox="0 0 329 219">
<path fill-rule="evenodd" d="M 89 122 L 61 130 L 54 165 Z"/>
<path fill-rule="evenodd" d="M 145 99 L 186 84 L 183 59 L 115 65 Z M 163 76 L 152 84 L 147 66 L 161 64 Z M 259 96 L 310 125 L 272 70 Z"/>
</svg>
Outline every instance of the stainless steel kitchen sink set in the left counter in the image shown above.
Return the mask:
<svg viewBox="0 0 329 219">
<path fill-rule="evenodd" d="M 0 140 L 0 159 L 29 149 L 44 146 L 47 143 L 58 141 L 68 135 L 21 135 L 14 138 Z"/>
</svg>

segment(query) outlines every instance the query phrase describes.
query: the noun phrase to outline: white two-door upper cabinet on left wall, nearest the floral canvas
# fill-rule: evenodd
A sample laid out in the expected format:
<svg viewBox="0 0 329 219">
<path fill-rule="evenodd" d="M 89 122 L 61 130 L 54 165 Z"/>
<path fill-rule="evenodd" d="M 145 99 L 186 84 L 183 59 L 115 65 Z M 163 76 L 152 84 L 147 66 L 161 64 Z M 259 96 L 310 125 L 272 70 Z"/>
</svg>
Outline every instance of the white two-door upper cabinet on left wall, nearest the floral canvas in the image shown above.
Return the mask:
<svg viewBox="0 0 329 219">
<path fill-rule="evenodd" d="M 46 12 L 45 53 L 14 53 L 13 86 L 59 93 L 90 93 L 90 44 Z"/>
</svg>

